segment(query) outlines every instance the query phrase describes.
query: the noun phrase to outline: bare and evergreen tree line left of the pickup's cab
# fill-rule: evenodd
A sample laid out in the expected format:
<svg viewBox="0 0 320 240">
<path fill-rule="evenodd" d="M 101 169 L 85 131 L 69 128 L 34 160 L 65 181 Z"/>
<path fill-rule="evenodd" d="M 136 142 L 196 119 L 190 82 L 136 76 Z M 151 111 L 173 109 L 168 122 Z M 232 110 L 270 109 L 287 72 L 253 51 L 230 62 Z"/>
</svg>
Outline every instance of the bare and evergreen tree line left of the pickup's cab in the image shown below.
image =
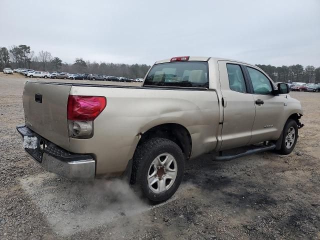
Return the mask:
<svg viewBox="0 0 320 240">
<path fill-rule="evenodd" d="M 124 64 L 112 62 L 84 61 L 75 58 L 73 63 L 62 62 L 57 56 L 41 50 L 35 54 L 27 45 L 12 45 L 9 48 L 0 47 L 0 68 L 28 68 L 41 71 L 61 71 L 70 73 L 93 73 L 103 75 L 142 78 L 150 68 L 146 64 Z"/>
</svg>

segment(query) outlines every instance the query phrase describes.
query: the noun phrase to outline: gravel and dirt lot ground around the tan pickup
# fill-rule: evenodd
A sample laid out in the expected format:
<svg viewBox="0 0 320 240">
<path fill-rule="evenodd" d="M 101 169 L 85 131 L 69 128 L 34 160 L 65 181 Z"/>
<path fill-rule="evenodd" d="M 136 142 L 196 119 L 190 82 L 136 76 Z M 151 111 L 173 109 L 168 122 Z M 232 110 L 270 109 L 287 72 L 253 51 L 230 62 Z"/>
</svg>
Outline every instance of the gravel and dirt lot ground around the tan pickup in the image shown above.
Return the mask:
<svg viewBox="0 0 320 240">
<path fill-rule="evenodd" d="M 198 157 L 152 206 L 119 180 L 66 180 L 27 156 L 26 79 L 0 73 L 0 239 L 320 239 L 320 93 L 290 92 L 305 124 L 291 154 Z"/>
</svg>

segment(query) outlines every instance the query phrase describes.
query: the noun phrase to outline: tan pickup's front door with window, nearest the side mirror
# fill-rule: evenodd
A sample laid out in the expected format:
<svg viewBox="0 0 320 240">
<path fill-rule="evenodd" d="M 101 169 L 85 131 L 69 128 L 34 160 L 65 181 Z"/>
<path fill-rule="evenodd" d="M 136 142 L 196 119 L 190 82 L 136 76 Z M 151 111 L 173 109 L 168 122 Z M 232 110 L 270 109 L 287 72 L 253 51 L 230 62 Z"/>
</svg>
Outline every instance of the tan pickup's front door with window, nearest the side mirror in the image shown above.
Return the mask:
<svg viewBox="0 0 320 240">
<path fill-rule="evenodd" d="M 275 140 L 281 134 L 286 94 L 274 94 L 272 81 L 254 66 L 245 66 L 255 105 L 252 137 L 249 143 Z"/>
</svg>

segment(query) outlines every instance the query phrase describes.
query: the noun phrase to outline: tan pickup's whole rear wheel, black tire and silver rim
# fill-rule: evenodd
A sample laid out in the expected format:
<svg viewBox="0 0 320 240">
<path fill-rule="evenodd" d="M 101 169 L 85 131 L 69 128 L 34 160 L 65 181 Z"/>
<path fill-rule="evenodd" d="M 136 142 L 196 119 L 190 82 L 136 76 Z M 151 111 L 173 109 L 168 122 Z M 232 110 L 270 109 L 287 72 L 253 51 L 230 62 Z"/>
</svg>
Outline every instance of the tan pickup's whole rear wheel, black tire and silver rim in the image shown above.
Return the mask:
<svg viewBox="0 0 320 240">
<path fill-rule="evenodd" d="M 169 199 L 179 187 L 183 171 L 181 148 L 169 139 L 154 137 L 138 145 L 135 150 L 130 182 L 150 201 L 162 202 Z M 150 182 L 152 180 L 153 184 Z"/>
</svg>

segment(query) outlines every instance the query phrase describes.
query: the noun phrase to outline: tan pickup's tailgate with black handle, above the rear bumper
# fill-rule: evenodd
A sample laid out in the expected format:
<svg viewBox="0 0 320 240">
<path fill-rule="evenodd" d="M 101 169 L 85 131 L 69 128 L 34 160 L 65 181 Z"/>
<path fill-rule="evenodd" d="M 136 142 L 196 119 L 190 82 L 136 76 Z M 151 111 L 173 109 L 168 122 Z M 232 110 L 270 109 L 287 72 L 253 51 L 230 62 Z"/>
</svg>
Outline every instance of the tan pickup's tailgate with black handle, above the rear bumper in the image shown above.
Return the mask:
<svg viewBox="0 0 320 240">
<path fill-rule="evenodd" d="M 66 150 L 69 150 L 66 106 L 70 88 L 70 84 L 27 81 L 22 97 L 26 126 Z"/>
</svg>

